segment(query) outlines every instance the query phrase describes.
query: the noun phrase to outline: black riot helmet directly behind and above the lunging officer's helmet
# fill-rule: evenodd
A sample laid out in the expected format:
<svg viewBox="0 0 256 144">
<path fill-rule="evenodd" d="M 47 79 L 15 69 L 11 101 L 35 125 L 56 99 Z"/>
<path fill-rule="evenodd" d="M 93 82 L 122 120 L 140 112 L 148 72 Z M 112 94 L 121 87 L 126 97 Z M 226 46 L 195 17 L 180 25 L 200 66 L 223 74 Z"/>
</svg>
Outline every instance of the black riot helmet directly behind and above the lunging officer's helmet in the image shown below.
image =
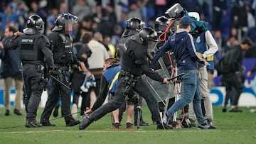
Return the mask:
<svg viewBox="0 0 256 144">
<path fill-rule="evenodd" d="M 129 18 L 127 20 L 126 28 L 129 30 L 136 30 L 139 31 L 140 29 L 144 28 L 145 23 L 139 18 Z"/>
</svg>

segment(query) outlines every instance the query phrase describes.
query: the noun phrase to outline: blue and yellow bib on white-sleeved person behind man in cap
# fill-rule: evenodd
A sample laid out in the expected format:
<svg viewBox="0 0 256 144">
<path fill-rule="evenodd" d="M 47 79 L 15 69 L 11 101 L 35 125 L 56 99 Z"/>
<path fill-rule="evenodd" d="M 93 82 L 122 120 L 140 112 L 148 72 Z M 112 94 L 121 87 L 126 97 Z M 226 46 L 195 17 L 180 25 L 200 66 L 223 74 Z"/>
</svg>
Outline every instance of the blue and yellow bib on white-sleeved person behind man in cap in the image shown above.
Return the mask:
<svg viewBox="0 0 256 144">
<path fill-rule="evenodd" d="M 203 52 L 208 50 L 207 45 L 206 45 L 205 33 L 206 32 L 203 32 L 200 35 L 198 35 L 197 37 L 193 37 L 195 47 L 196 47 L 196 52 L 198 52 L 199 54 L 203 54 Z M 208 69 L 212 70 L 214 68 L 213 55 L 211 55 L 210 57 L 206 57 L 203 60 L 206 60 L 210 64 L 207 66 Z M 200 63 L 199 65 L 203 65 L 203 64 Z"/>
</svg>

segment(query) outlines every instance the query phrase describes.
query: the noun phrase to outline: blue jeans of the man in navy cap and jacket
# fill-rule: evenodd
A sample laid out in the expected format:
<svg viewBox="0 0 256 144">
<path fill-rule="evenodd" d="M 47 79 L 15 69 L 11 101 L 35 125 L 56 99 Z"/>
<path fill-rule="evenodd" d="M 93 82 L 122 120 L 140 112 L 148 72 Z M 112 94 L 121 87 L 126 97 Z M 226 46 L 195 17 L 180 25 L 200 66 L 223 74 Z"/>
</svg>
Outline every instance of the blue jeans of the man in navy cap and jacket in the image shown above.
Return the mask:
<svg viewBox="0 0 256 144">
<path fill-rule="evenodd" d="M 200 85 L 198 76 L 196 74 L 196 70 L 186 70 L 186 71 L 178 71 L 178 73 L 185 72 L 183 76 L 181 76 L 182 84 L 183 84 L 183 95 L 178 99 L 167 111 L 166 116 L 171 118 L 176 111 L 182 109 L 183 106 L 186 106 L 191 101 L 193 101 L 193 109 L 196 113 L 196 118 L 198 119 L 198 123 L 205 123 L 203 118 L 203 113 L 201 109 L 201 94 L 200 94 Z"/>
</svg>

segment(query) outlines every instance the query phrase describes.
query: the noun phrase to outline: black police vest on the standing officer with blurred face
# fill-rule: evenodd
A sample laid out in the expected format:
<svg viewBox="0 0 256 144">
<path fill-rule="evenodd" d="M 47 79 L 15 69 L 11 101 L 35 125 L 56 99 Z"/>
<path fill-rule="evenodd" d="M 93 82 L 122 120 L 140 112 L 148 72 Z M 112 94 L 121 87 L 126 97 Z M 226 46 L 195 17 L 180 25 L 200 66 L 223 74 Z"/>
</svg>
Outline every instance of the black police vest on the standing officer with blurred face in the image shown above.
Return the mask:
<svg viewBox="0 0 256 144">
<path fill-rule="evenodd" d="M 67 38 L 63 33 L 59 33 L 58 36 L 60 36 L 61 41 L 58 42 L 58 50 L 53 55 L 55 62 L 64 64 L 73 63 L 73 38 L 70 35 Z"/>
</svg>

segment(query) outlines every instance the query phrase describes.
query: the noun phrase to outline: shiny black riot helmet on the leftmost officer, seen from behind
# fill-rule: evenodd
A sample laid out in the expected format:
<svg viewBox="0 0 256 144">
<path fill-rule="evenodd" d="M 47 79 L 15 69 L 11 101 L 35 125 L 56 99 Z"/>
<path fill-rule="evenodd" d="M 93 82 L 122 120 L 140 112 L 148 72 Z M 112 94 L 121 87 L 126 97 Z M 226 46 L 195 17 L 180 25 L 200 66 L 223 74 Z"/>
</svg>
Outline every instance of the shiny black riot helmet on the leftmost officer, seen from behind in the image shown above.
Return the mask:
<svg viewBox="0 0 256 144">
<path fill-rule="evenodd" d="M 44 22 L 43 19 L 38 15 L 29 16 L 27 21 L 27 27 L 36 29 L 39 33 L 44 32 Z"/>
</svg>

